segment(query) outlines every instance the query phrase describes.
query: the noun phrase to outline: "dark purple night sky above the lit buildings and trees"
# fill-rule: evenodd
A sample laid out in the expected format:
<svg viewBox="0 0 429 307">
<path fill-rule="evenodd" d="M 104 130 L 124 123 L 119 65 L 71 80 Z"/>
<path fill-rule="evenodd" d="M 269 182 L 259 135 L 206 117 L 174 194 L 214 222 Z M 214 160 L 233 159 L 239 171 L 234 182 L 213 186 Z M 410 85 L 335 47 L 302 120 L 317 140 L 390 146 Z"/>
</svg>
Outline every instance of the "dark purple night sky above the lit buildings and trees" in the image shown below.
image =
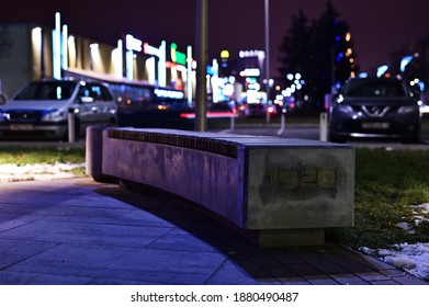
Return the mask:
<svg viewBox="0 0 429 307">
<path fill-rule="evenodd" d="M 302 9 L 309 21 L 319 18 L 327 0 L 270 0 L 270 62 L 276 75 L 278 46 L 291 26 L 291 18 Z M 121 34 L 159 46 L 178 44 L 185 52 L 195 45 L 197 0 L 74 0 L 12 1 L 0 10 L 0 23 L 37 23 L 54 26 L 55 12 L 69 33 L 114 43 Z M 25 3 L 27 8 L 23 10 Z M 391 52 L 429 35 L 428 0 L 331 0 L 340 19 L 351 30 L 357 62 L 361 70 L 388 60 Z M 4 7 L 4 3 L 2 4 Z M 208 0 L 208 52 L 219 57 L 228 49 L 264 49 L 264 0 Z"/>
</svg>

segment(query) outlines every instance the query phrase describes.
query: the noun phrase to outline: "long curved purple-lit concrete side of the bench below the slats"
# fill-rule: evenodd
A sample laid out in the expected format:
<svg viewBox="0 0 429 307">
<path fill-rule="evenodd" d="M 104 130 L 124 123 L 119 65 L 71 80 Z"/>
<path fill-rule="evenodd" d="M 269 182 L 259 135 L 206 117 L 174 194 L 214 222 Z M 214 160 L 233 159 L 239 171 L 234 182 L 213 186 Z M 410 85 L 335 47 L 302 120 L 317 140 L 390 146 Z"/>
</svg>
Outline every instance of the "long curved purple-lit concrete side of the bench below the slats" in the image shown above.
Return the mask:
<svg viewBox="0 0 429 307">
<path fill-rule="evenodd" d="M 104 138 L 103 173 L 182 196 L 245 227 L 244 166 L 211 152 Z"/>
</svg>

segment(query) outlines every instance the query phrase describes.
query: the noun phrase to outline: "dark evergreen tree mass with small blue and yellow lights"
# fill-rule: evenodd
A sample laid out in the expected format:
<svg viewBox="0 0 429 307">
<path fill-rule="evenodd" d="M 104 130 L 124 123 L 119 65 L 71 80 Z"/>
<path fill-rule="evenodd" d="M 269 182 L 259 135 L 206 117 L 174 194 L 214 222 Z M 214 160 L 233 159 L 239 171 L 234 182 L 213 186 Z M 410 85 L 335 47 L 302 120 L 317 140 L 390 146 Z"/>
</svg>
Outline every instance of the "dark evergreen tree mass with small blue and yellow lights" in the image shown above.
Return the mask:
<svg viewBox="0 0 429 307">
<path fill-rule="evenodd" d="M 293 70 L 301 72 L 306 81 L 305 92 L 320 111 L 325 94 L 358 70 L 352 46 L 349 25 L 339 20 L 339 13 L 328 0 L 325 11 L 312 26 L 307 26 L 307 19 L 301 11 L 293 18 L 279 47 L 282 54 L 280 72 L 282 76 Z"/>
</svg>

